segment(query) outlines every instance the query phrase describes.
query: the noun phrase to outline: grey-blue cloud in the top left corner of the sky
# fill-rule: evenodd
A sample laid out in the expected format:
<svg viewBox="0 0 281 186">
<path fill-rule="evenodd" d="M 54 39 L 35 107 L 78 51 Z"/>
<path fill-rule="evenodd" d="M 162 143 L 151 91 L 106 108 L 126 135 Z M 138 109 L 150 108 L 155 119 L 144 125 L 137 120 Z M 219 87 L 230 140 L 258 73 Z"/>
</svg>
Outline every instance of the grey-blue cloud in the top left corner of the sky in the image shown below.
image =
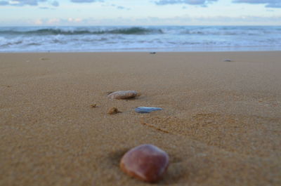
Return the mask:
<svg viewBox="0 0 281 186">
<path fill-rule="evenodd" d="M 0 1 L 0 6 L 38 6 L 42 2 L 49 2 L 48 0 L 11 0 L 11 1 Z M 50 1 L 52 6 L 59 6 L 58 1 Z"/>
</svg>

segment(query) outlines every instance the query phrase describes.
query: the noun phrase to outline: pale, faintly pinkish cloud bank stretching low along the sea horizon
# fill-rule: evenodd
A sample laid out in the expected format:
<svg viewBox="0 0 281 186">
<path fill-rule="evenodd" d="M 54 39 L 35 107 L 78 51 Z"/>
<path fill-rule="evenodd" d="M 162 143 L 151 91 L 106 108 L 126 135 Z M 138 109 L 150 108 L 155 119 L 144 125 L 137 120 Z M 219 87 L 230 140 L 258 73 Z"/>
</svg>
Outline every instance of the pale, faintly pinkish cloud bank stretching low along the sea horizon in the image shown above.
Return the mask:
<svg viewBox="0 0 281 186">
<path fill-rule="evenodd" d="M 176 16 L 171 18 L 67 18 L 67 19 L 50 19 L 50 18 L 32 18 L 28 20 L 23 19 L 11 19 L 1 20 L 0 25 L 3 26 L 15 26 L 15 25 L 60 25 L 60 26 L 87 26 L 87 25 L 278 25 L 280 26 L 281 16 Z"/>
</svg>

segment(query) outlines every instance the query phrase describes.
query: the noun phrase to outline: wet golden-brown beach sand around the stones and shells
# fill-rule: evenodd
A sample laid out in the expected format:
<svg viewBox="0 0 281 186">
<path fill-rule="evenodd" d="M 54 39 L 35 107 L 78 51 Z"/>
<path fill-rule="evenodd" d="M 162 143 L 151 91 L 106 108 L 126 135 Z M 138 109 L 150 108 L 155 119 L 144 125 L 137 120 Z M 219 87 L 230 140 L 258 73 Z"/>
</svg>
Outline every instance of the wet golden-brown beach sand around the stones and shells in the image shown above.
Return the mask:
<svg viewBox="0 0 281 186">
<path fill-rule="evenodd" d="M 150 185 L 119 169 L 145 143 L 158 185 L 281 185 L 281 52 L 0 53 L 1 186 Z"/>
</svg>

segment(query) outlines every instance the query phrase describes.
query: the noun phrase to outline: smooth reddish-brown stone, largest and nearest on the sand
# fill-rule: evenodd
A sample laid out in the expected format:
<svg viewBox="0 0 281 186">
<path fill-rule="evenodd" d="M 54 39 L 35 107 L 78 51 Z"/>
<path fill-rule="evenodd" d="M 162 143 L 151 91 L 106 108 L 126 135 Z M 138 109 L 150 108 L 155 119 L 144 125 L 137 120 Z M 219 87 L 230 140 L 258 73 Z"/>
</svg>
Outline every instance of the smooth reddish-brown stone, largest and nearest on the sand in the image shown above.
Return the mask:
<svg viewBox="0 0 281 186">
<path fill-rule="evenodd" d="M 157 182 L 169 166 L 169 156 L 150 144 L 134 147 L 124 154 L 120 168 L 128 175 L 145 182 Z"/>
</svg>

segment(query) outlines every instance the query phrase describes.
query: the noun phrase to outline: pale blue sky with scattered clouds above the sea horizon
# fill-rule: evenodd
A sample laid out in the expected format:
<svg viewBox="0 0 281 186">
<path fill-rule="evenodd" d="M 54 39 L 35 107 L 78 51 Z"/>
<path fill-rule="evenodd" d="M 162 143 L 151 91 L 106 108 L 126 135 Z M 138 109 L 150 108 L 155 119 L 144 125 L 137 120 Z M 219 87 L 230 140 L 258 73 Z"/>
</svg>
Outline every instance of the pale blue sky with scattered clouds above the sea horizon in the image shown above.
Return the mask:
<svg viewBox="0 0 281 186">
<path fill-rule="evenodd" d="M 0 0 L 0 26 L 281 25 L 281 0 Z"/>
</svg>

